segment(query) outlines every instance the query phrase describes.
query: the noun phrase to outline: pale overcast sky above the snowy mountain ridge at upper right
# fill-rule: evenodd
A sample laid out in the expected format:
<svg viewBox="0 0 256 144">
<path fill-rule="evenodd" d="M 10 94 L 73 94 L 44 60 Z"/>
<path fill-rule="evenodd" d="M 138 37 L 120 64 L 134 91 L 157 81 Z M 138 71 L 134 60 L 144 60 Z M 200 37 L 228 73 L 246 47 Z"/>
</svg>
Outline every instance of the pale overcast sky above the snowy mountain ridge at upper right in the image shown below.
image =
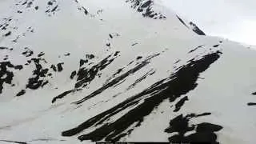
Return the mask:
<svg viewBox="0 0 256 144">
<path fill-rule="evenodd" d="M 161 0 L 207 35 L 256 45 L 256 0 Z"/>
</svg>

